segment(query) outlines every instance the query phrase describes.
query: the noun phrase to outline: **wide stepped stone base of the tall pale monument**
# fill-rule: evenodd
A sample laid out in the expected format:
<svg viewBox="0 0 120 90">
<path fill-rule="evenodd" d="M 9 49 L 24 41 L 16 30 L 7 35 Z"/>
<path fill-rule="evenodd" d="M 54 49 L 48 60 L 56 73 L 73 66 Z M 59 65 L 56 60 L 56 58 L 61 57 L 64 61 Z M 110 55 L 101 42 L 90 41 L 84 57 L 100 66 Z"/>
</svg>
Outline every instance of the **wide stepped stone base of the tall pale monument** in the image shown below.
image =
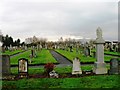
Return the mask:
<svg viewBox="0 0 120 90">
<path fill-rule="evenodd" d="M 96 62 L 94 64 L 93 73 L 95 73 L 95 74 L 107 74 L 106 64 Z"/>
</svg>

